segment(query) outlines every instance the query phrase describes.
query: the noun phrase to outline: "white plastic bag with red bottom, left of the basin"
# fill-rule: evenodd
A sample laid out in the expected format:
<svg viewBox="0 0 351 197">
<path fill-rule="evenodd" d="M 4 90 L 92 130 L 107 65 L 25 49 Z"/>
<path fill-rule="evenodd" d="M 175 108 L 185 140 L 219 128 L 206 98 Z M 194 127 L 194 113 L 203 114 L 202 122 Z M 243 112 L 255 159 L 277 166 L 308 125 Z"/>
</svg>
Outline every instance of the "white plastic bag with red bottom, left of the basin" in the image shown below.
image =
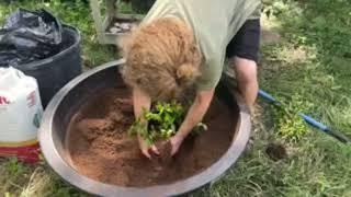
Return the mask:
<svg viewBox="0 0 351 197">
<path fill-rule="evenodd" d="M 34 78 L 0 68 L 0 155 L 37 160 L 37 129 L 43 107 Z"/>
</svg>

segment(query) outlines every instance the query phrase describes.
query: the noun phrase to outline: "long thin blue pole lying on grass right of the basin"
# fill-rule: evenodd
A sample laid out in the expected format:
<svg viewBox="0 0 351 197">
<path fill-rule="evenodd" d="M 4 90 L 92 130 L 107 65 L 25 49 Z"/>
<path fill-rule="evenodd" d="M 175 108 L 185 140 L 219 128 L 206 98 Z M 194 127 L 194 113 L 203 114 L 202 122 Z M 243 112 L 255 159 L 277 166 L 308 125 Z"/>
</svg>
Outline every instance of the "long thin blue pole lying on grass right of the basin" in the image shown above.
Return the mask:
<svg viewBox="0 0 351 197">
<path fill-rule="evenodd" d="M 259 96 L 264 99 L 265 101 L 270 102 L 271 104 L 274 104 L 276 106 L 281 106 L 282 107 L 282 103 L 279 102 L 278 100 L 275 100 L 271 94 L 264 92 L 263 90 L 259 90 Z M 315 118 L 313 118 L 309 115 L 306 115 L 304 113 L 298 113 L 298 115 L 310 126 L 324 131 L 325 134 L 336 138 L 337 140 L 339 140 L 340 142 L 343 143 L 349 143 L 351 142 L 351 140 L 346 137 L 344 135 L 333 131 L 331 130 L 328 126 L 326 126 L 325 124 L 317 121 Z"/>
</svg>

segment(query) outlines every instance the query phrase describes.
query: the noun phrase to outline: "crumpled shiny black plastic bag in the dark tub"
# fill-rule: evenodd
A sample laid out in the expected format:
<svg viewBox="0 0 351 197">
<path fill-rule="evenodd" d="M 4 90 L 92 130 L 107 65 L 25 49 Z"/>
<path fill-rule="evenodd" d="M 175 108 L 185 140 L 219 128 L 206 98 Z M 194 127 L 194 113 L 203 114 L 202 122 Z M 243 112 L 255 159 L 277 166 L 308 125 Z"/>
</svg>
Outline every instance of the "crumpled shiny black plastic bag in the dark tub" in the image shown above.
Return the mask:
<svg viewBox="0 0 351 197">
<path fill-rule="evenodd" d="M 19 9 L 0 30 L 0 67 L 20 66 L 58 54 L 61 24 L 45 10 Z"/>
</svg>

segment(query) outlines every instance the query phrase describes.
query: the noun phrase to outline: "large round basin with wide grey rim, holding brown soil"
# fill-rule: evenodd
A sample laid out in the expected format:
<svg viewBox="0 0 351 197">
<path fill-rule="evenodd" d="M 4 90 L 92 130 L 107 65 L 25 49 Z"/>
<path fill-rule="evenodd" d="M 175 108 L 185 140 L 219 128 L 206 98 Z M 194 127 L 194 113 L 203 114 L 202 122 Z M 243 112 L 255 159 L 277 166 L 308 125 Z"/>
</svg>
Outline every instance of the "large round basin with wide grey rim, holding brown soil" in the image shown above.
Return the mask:
<svg viewBox="0 0 351 197">
<path fill-rule="evenodd" d="M 177 196 L 190 193 L 217 179 L 240 157 L 249 140 L 250 116 L 240 100 L 234 96 L 229 89 L 219 83 L 216 90 L 218 96 L 236 113 L 236 127 L 229 149 L 208 169 L 185 179 L 171 184 L 149 187 L 122 187 L 91 179 L 77 172 L 69 161 L 65 148 L 68 124 L 77 109 L 98 90 L 125 85 L 118 74 L 123 60 L 105 63 L 87 71 L 65 85 L 47 106 L 38 134 L 41 148 L 50 167 L 66 182 L 87 193 L 98 196 Z"/>
</svg>

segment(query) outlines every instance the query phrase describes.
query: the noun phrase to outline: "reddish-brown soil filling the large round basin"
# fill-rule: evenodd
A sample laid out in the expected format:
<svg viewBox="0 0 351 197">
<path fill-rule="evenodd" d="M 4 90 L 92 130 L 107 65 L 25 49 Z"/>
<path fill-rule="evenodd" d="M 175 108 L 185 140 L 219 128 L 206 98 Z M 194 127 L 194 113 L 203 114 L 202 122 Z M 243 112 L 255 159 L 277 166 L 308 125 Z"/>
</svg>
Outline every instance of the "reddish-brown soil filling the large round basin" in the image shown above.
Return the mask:
<svg viewBox="0 0 351 197">
<path fill-rule="evenodd" d="M 127 135 L 134 121 L 129 93 L 109 89 L 97 95 L 73 116 L 67 138 L 73 167 L 93 179 L 137 187 L 171 183 L 207 169 L 231 142 L 236 114 L 215 99 L 204 119 L 208 130 L 186 138 L 174 157 L 170 143 L 157 144 L 162 157 L 150 161 Z"/>
</svg>

